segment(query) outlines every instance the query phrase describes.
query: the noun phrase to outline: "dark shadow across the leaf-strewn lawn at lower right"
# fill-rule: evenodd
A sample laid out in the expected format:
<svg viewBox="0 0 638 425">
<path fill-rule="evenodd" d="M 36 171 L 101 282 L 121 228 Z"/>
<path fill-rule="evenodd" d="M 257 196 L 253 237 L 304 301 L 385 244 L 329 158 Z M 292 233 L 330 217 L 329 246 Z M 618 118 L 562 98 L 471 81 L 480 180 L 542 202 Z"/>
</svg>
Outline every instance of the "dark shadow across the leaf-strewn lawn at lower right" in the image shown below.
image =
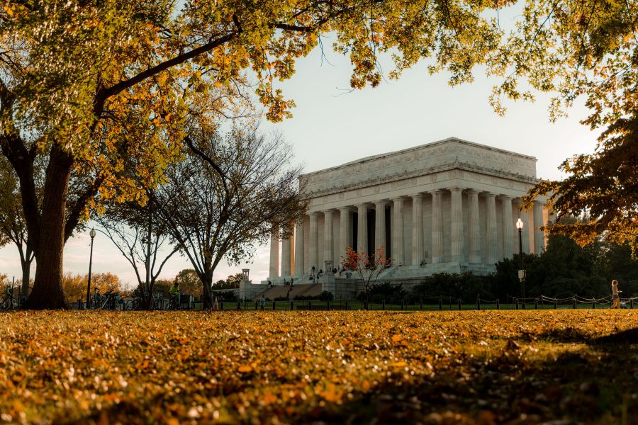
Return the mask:
<svg viewBox="0 0 638 425">
<path fill-rule="evenodd" d="M 459 353 L 429 376 L 391 373 L 367 392 L 355 392 L 342 404 L 297 406 L 276 404 L 259 410 L 253 422 L 294 424 L 638 424 L 638 329 L 592 337 L 566 328 L 535 334 L 538 341 L 585 344 L 557 350 L 535 360 L 529 335 L 508 341 L 489 357 Z M 520 343 L 520 344 L 519 344 Z M 532 348 L 530 348 L 532 347 Z M 237 391 L 247 387 L 235 388 Z M 217 397 L 218 393 L 199 395 Z M 233 390 L 224 392 L 233 398 Z M 191 394 L 159 397 L 146 403 L 189 406 Z M 148 423 L 150 406 L 118 404 L 74 423 Z M 623 414 L 623 412 L 625 412 Z M 233 416 L 237 412 L 231 412 Z M 155 421 L 184 414 L 166 412 Z M 138 419 L 138 420 L 136 420 Z M 152 420 L 151 420 L 152 421 Z M 62 421 L 61 421 L 62 422 Z M 206 421 L 204 421 L 206 422 Z M 214 421 L 213 421 L 214 422 Z M 237 414 L 233 423 L 249 423 Z"/>
</svg>

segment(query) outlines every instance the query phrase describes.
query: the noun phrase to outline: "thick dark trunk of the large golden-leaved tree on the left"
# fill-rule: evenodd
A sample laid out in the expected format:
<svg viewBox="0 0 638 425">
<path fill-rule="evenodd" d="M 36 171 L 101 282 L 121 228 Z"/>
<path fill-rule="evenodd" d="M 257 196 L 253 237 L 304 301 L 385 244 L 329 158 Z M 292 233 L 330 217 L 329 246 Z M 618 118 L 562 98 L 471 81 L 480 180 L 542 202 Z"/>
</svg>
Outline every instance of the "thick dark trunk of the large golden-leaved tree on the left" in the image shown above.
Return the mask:
<svg viewBox="0 0 638 425">
<path fill-rule="evenodd" d="M 67 308 L 62 291 L 62 256 L 65 249 L 65 212 L 72 157 L 52 147 L 46 171 L 40 234 L 35 251 L 35 282 L 25 308 Z"/>
</svg>

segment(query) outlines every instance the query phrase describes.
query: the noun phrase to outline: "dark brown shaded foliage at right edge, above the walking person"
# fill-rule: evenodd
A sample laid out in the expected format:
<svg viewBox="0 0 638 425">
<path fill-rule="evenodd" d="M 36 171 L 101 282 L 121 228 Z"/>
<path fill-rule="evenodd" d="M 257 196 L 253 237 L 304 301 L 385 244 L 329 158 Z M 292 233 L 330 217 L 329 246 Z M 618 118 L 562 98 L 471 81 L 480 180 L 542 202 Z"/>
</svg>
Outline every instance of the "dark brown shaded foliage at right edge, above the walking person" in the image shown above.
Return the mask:
<svg viewBox="0 0 638 425">
<path fill-rule="evenodd" d="M 576 155 L 561 164 L 568 176 L 542 181 L 526 197 L 527 205 L 549 194 L 558 211 L 550 233 L 564 234 L 581 246 L 603 235 L 609 242 L 628 243 L 638 259 L 638 111 L 620 118 L 603 132 L 593 154 Z M 584 220 L 564 220 L 564 217 Z"/>
</svg>

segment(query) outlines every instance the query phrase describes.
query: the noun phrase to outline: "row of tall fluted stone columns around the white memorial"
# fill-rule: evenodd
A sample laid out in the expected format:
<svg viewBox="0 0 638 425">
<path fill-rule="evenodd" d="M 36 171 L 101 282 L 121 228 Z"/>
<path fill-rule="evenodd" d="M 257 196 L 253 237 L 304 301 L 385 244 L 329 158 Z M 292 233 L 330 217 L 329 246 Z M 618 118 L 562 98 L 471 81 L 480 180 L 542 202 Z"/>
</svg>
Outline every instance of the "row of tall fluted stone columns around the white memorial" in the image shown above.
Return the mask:
<svg viewBox="0 0 638 425">
<path fill-rule="evenodd" d="M 435 190 L 430 192 L 432 195 L 432 263 L 443 263 L 444 259 L 444 210 L 442 208 L 443 195 L 446 190 Z M 481 220 L 479 217 L 478 208 L 478 195 L 479 192 L 474 189 L 466 190 L 468 195 L 468 240 L 464 240 L 464 217 L 463 217 L 463 188 L 453 187 L 447 189 L 450 192 L 451 206 L 449 210 L 450 216 L 450 251 L 451 255 L 446 262 L 462 262 L 464 261 L 464 246 L 467 243 L 469 246 L 469 256 L 467 262 L 469 263 L 481 263 Z M 487 263 L 496 263 L 498 259 L 498 241 L 497 241 L 497 223 L 496 223 L 496 197 L 494 193 L 483 193 L 483 197 L 486 202 L 486 259 Z M 425 259 L 423 248 L 423 193 L 416 193 L 410 196 L 412 201 L 412 222 L 410 223 L 412 228 L 412 265 L 419 266 L 421 261 Z M 503 257 L 509 258 L 514 254 L 514 222 L 513 222 L 513 198 L 509 196 L 499 196 L 501 205 L 503 208 Z M 404 197 L 393 198 L 394 222 L 391 229 L 391 252 L 393 265 L 403 264 L 405 265 L 405 256 L 403 253 L 404 241 L 403 241 L 403 204 L 407 199 Z M 388 204 L 388 200 L 379 200 L 374 203 L 374 208 L 377 212 L 376 220 L 374 223 L 375 228 L 375 240 L 374 246 L 379 247 L 386 244 L 386 215 L 385 208 Z M 358 220 L 357 220 L 357 245 L 359 248 L 366 249 L 368 246 L 368 215 L 367 210 L 369 204 L 357 205 Z M 351 234 L 349 213 L 352 211 L 351 207 L 339 208 L 340 211 L 340 253 L 339 256 L 345 254 L 349 244 L 349 235 Z M 333 212 L 334 210 L 325 210 L 323 212 L 311 212 L 310 218 L 310 232 L 308 241 L 308 256 L 309 264 L 315 265 L 317 268 L 323 267 L 323 261 L 334 261 L 334 243 L 333 237 Z M 323 213 L 324 217 L 324 249 L 323 253 L 318 251 L 319 246 L 319 227 L 318 216 Z M 542 203 L 534 203 L 534 251 L 540 253 L 544 249 L 544 233 L 538 228 L 543 223 L 543 210 Z M 529 240 L 529 220 L 527 220 L 527 213 L 521 214 L 520 218 L 523 222 L 525 231 L 522 232 L 522 245 L 525 247 L 530 246 Z M 281 276 L 301 275 L 301 269 L 304 264 L 304 243 L 303 240 L 303 225 L 298 223 L 296 225 L 295 232 L 296 243 L 294 241 L 295 236 L 291 236 L 288 239 L 284 239 L 281 246 Z M 291 251 L 291 246 L 294 246 L 294 252 Z M 527 251 L 527 249 L 524 249 Z M 320 254 L 323 256 L 320 258 Z M 299 270 L 297 270 L 294 264 L 298 264 Z M 276 236 L 271 239 L 270 249 L 270 277 L 274 278 L 279 275 L 279 241 Z"/>
</svg>

